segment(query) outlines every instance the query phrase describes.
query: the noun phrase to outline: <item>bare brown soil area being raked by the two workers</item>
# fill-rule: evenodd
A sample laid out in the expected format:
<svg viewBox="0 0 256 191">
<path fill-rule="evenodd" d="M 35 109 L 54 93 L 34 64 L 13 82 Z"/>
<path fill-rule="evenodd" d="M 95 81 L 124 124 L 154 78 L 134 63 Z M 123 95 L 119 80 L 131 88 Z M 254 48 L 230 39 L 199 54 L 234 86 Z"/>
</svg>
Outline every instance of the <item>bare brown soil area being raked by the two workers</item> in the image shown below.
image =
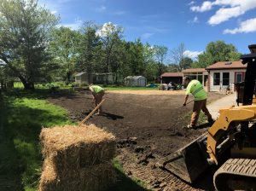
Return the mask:
<svg viewBox="0 0 256 191">
<path fill-rule="evenodd" d="M 223 96 L 209 93 L 208 102 Z M 148 189 L 212 190 L 211 170 L 206 172 L 208 176 L 203 175 L 190 185 L 154 167 L 160 157 L 173 153 L 207 131 L 207 124 L 196 130 L 184 128 L 189 123 L 193 103 L 182 107 L 183 97 L 183 90 L 107 90 L 103 115 L 92 116 L 85 123 L 96 124 L 117 137 L 117 158 L 126 175 L 142 180 Z M 71 96 L 53 96 L 49 101 L 66 108 L 74 121 L 81 121 L 95 107 L 86 90 Z"/>
</svg>

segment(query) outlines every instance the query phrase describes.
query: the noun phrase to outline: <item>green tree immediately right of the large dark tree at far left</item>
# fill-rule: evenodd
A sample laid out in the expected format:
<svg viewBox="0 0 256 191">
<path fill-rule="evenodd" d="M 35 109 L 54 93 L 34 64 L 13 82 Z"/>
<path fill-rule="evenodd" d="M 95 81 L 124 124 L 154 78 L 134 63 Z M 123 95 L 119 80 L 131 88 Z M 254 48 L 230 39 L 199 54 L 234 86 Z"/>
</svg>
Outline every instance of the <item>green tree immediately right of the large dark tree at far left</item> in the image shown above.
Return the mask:
<svg viewBox="0 0 256 191">
<path fill-rule="evenodd" d="M 59 77 L 70 82 L 77 61 L 77 47 L 79 43 L 79 32 L 68 27 L 61 26 L 52 32 L 52 40 L 49 43 L 54 61 L 59 66 Z"/>
</svg>

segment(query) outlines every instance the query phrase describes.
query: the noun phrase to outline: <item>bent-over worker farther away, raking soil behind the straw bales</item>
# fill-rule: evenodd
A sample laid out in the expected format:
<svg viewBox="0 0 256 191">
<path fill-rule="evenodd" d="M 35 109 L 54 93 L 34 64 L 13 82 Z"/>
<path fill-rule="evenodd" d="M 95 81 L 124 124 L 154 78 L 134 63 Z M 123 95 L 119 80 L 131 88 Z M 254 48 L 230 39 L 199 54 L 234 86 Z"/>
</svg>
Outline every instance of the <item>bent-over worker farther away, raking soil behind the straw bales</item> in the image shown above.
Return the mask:
<svg viewBox="0 0 256 191">
<path fill-rule="evenodd" d="M 93 96 L 93 100 L 95 101 L 96 106 L 99 105 L 100 102 L 102 102 L 102 97 L 105 94 L 105 90 L 101 86 L 94 84 L 90 84 L 89 90 Z M 99 107 L 96 115 L 102 115 L 102 106 Z"/>
</svg>

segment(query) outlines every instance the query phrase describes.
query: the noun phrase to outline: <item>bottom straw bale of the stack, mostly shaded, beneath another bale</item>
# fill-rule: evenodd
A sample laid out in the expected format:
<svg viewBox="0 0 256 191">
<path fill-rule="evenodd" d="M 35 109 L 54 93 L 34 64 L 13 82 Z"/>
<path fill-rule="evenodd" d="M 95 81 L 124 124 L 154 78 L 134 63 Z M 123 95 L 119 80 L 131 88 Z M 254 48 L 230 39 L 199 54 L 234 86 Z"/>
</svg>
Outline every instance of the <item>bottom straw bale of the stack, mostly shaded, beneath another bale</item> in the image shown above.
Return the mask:
<svg viewBox="0 0 256 191">
<path fill-rule="evenodd" d="M 44 170 L 39 183 L 39 191 L 102 191 L 116 181 L 111 163 L 92 165 L 78 171 L 67 171 L 59 177 L 50 160 L 44 161 Z"/>
</svg>

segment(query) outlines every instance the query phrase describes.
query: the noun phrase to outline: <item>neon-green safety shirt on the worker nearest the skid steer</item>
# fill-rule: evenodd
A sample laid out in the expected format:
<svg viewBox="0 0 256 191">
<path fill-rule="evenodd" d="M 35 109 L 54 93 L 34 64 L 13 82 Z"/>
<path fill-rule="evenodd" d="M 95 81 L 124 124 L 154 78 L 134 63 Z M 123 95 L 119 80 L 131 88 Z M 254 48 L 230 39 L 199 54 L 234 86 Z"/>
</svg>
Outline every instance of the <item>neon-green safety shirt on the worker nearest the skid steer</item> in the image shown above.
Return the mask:
<svg viewBox="0 0 256 191">
<path fill-rule="evenodd" d="M 195 101 L 207 99 L 207 92 L 201 85 L 200 81 L 193 79 L 189 82 L 186 95 L 192 94 L 195 97 Z"/>
</svg>

